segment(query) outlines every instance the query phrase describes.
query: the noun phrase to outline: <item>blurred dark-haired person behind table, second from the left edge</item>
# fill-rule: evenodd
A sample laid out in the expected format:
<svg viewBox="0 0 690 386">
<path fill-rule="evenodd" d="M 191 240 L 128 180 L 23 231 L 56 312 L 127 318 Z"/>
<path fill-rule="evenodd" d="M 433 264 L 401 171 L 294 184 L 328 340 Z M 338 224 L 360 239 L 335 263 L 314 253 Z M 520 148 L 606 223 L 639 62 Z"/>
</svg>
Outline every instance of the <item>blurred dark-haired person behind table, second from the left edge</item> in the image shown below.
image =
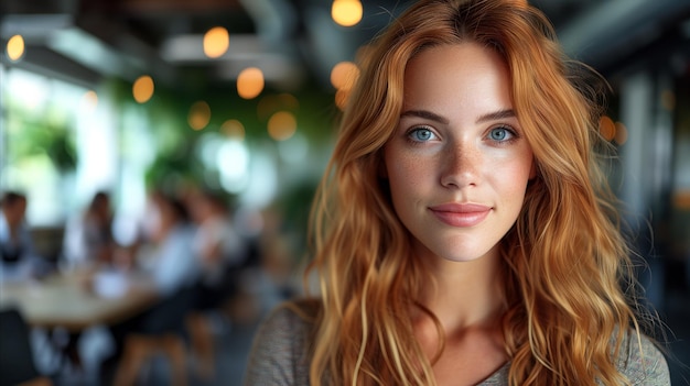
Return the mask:
<svg viewBox="0 0 690 386">
<path fill-rule="evenodd" d="M 96 192 L 86 211 L 67 223 L 64 244 L 64 257 L 69 267 L 111 263 L 115 241 L 107 192 Z"/>
</svg>

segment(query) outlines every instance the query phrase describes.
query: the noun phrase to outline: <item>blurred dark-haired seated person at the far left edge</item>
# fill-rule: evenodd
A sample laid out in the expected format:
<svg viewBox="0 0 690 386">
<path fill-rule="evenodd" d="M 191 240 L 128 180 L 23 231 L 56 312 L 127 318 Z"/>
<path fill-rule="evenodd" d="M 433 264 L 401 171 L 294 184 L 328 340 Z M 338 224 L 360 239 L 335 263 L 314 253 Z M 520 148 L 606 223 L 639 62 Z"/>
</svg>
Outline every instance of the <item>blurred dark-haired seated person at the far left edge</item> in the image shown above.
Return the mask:
<svg viewBox="0 0 690 386">
<path fill-rule="evenodd" d="M 24 219 L 26 196 L 6 191 L 0 201 L 0 280 L 25 279 L 40 271 L 41 258 Z"/>
</svg>

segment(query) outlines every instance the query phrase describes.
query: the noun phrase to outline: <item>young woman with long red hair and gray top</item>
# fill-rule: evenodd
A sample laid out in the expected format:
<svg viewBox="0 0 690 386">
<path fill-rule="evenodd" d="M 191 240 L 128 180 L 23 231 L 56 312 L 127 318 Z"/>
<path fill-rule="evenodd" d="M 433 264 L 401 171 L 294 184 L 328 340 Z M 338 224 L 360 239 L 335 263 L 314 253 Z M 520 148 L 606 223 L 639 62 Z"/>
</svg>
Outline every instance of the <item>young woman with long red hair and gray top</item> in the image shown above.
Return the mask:
<svg viewBox="0 0 690 386">
<path fill-rule="evenodd" d="M 524 1 L 391 23 L 314 206 L 319 297 L 270 316 L 246 384 L 668 385 L 578 68 Z"/>
</svg>

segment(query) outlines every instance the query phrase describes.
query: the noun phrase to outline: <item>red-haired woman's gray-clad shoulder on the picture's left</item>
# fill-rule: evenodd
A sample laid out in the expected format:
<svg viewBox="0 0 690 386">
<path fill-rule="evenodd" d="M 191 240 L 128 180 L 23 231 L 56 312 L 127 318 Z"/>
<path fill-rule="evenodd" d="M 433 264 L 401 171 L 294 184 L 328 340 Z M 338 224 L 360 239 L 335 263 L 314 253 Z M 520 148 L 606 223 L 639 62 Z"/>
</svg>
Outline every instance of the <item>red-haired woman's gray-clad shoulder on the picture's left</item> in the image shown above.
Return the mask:
<svg viewBox="0 0 690 386">
<path fill-rule="evenodd" d="M 245 385 L 309 384 L 313 323 L 303 304 L 285 302 L 260 324 L 246 368 Z"/>
</svg>

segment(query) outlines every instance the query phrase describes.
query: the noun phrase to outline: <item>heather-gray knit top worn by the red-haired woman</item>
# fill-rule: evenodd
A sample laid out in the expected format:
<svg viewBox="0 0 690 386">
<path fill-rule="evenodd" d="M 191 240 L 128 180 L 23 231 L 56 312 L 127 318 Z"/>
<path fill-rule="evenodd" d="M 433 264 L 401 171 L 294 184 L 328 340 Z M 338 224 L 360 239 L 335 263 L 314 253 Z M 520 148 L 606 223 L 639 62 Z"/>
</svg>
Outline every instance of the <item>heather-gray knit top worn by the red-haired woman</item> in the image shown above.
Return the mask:
<svg viewBox="0 0 690 386">
<path fill-rule="evenodd" d="M 255 337 L 244 385 L 309 385 L 310 359 L 306 348 L 310 334 L 311 324 L 294 311 L 284 307 L 273 310 Z M 640 355 L 636 342 L 636 339 L 629 339 L 622 346 L 624 356 L 619 357 L 618 367 L 623 374 L 632 385 L 670 385 L 668 364 L 661 352 L 643 338 L 644 354 Z M 508 362 L 478 385 L 508 385 L 509 366 Z"/>
</svg>

